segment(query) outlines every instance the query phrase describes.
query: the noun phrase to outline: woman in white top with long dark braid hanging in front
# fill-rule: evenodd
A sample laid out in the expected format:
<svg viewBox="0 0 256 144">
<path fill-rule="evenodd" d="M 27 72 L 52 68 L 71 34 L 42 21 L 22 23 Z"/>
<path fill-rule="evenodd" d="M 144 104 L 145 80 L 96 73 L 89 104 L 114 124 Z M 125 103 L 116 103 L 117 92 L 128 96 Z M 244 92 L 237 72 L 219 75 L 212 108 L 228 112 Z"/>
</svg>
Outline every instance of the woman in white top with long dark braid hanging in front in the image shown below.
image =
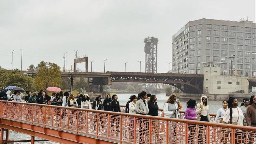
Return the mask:
<svg viewBox="0 0 256 144">
<path fill-rule="evenodd" d="M 231 124 L 231 125 L 243 125 L 243 111 L 238 107 L 238 101 L 236 98 L 230 97 L 228 99 L 228 110 L 226 111 L 225 115 L 223 116 L 222 123 L 225 124 Z M 236 132 L 236 138 L 238 138 L 238 132 Z M 225 134 L 225 141 L 223 143 L 226 143 L 228 134 Z M 240 139 L 242 139 L 242 135 L 239 136 Z M 222 139 L 222 140 L 224 140 Z M 236 141 L 237 143 L 237 141 Z"/>
</svg>

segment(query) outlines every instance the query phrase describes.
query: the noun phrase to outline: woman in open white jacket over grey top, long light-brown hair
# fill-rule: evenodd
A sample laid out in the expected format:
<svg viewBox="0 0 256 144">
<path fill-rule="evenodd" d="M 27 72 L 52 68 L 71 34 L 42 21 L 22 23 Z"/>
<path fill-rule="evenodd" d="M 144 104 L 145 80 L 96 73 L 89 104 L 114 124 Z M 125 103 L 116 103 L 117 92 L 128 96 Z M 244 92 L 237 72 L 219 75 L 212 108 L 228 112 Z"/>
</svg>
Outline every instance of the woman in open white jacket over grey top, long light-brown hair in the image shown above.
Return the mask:
<svg viewBox="0 0 256 144">
<path fill-rule="evenodd" d="M 169 97 L 169 99 L 166 101 L 166 103 L 163 105 L 163 115 L 165 117 L 170 117 L 170 118 L 179 118 L 179 106 L 176 103 L 176 96 L 175 95 L 171 95 Z M 175 121 L 171 121 L 171 123 L 169 123 L 169 140 L 170 142 L 175 142 Z"/>
</svg>

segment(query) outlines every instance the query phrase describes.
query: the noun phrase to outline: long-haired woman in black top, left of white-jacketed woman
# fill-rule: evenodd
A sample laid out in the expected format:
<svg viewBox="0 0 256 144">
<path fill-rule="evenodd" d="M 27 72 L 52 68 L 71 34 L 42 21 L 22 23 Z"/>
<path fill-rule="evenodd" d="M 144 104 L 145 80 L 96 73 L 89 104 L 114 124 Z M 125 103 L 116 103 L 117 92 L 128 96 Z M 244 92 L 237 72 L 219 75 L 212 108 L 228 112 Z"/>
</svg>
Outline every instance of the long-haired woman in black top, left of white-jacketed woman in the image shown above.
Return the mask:
<svg viewBox="0 0 256 144">
<path fill-rule="evenodd" d="M 148 109 L 149 109 L 148 115 L 158 116 L 159 108 L 156 101 L 157 101 L 156 95 L 151 95 L 150 100 L 147 102 Z M 152 126 L 153 126 L 152 129 L 155 130 L 157 141 L 159 142 L 159 140 L 161 139 L 159 138 L 159 132 L 158 132 L 158 128 L 159 128 L 158 119 L 152 119 Z"/>
</svg>

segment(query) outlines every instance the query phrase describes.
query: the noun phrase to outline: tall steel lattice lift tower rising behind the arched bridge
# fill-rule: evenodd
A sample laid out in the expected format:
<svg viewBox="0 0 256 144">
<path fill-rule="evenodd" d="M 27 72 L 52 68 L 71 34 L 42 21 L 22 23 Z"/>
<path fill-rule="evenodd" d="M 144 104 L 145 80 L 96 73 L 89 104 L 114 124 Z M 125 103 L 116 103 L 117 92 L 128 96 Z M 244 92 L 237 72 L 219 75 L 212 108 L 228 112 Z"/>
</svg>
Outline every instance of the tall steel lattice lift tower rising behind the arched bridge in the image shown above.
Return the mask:
<svg viewBox="0 0 256 144">
<path fill-rule="evenodd" d="M 144 39 L 144 52 L 145 52 L 145 72 L 157 73 L 157 45 L 158 39 L 155 37 L 147 37 Z M 147 90 L 159 90 L 160 84 L 146 83 L 145 88 Z"/>
</svg>

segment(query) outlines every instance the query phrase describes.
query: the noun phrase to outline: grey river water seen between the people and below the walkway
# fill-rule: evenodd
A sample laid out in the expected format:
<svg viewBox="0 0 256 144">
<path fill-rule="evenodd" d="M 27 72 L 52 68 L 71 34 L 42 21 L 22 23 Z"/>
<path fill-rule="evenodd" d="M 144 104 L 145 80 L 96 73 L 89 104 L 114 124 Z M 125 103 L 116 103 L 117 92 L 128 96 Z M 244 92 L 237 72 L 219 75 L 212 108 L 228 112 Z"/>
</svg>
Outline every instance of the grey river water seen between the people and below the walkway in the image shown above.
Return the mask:
<svg viewBox="0 0 256 144">
<path fill-rule="evenodd" d="M 131 95 L 138 95 L 138 93 L 117 93 L 118 96 L 118 101 L 120 105 L 126 105 L 127 101 L 129 100 Z M 168 99 L 167 96 L 165 96 L 165 93 L 157 93 L 155 94 L 157 96 L 157 103 L 160 109 L 163 108 L 163 104 L 166 102 Z M 186 110 L 186 103 L 188 100 L 186 99 L 180 99 L 181 104 L 182 104 L 182 111 Z M 200 100 L 196 100 L 197 103 L 200 102 Z M 208 101 L 208 104 L 210 106 L 210 113 L 217 113 L 217 110 L 222 107 L 222 101 L 220 100 L 215 100 L 215 101 Z M 5 138 L 5 132 L 4 132 L 4 138 Z M 9 139 L 10 140 L 30 140 L 30 135 L 15 132 L 15 131 L 9 131 Z M 35 137 L 35 140 L 39 140 L 40 138 Z M 35 142 L 36 144 L 56 144 L 55 142 Z M 30 144 L 30 142 L 22 142 L 22 143 L 15 143 L 15 144 Z"/>
</svg>

